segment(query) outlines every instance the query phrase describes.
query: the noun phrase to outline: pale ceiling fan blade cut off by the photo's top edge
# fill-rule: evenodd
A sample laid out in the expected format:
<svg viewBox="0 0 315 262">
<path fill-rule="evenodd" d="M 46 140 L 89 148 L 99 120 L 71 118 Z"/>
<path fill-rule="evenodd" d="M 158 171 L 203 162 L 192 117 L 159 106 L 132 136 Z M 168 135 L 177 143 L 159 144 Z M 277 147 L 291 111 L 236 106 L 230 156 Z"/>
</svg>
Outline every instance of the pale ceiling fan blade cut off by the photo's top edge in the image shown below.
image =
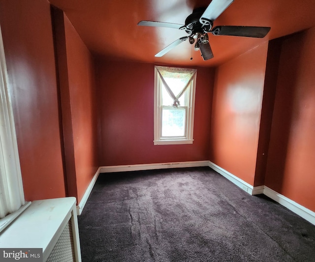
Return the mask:
<svg viewBox="0 0 315 262">
<path fill-rule="evenodd" d="M 221 13 L 233 2 L 234 0 L 212 0 L 199 19 L 203 25 L 210 25 L 209 21 L 215 21 Z"/>
</svg>

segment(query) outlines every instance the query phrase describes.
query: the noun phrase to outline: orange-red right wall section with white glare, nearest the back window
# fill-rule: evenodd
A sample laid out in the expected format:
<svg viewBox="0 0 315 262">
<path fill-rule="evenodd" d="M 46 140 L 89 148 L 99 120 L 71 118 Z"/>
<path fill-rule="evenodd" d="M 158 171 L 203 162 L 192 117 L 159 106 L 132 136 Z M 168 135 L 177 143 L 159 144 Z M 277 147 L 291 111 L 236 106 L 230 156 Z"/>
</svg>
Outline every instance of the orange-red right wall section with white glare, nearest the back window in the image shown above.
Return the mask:
<svg viewBox="0 0 315 262">
<path fill-rule="evenodd" d="M 219 66 L 213 94 L 209 159 L 252 185 L 267 47 L 265 43 Z"/>
</svg>

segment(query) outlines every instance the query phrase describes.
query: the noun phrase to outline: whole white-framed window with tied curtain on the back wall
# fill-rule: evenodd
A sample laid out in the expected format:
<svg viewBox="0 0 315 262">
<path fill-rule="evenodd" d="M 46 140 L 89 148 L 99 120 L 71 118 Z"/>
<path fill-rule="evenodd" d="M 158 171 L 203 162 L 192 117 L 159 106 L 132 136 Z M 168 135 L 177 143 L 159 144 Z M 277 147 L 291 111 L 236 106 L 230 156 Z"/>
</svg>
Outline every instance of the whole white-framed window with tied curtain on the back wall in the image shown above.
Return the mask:
<svg viewBox="0 0 315 262">
<path fill-rule="evenodd" d="M 192 144 L 196 72 L 155 67 L 154 145 Z"/>
</svg>

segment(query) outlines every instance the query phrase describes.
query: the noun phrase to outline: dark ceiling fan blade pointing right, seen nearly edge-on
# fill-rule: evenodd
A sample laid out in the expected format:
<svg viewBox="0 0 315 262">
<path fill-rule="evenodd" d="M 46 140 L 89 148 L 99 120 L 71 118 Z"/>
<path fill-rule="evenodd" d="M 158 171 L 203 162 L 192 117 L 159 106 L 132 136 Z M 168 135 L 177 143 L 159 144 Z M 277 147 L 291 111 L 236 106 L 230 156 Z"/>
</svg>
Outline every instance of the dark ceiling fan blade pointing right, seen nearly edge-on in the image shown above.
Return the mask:
<svg viewBox="0 0 315 262">
<path fill-rule="evenodd" d="M 242 27 L 242 26 L 220 26 L 215 27 L 211 33 L 214 35 L 234 35 L 263 38 L 269 32 L 268 27 Z"/>
</svg>

